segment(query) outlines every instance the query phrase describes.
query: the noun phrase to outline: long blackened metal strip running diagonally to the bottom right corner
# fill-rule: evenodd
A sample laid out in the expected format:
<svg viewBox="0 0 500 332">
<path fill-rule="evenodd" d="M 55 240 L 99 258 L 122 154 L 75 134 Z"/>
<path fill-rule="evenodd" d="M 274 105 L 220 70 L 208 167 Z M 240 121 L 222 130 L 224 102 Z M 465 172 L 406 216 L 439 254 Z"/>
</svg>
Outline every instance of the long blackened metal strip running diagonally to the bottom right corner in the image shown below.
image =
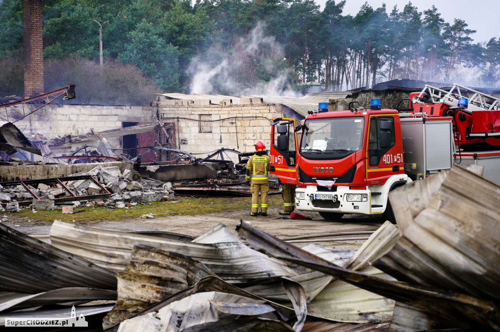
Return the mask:
<svg viewBox="0 0 500 332">
<path fill-rule="evenodd" d="M 430 308 L 448 320 L 456 320 L 477 328 L 486 326 L 500 330 L 500 310 L 493 301 L 447 289 L 385 280 L 339 267 L 244 223 L 238 226 L 238 232 L 250 246 L 273 257 L 332 274 L 353 285 L 405 304 Z"/>
</svg>

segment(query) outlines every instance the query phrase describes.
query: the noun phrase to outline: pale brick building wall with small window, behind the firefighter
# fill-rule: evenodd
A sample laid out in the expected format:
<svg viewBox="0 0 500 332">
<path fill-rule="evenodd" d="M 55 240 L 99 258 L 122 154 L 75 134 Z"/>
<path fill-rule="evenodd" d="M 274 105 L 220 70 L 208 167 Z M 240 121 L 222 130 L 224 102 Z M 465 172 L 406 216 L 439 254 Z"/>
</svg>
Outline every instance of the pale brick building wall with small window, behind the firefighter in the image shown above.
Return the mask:
<svg viewBox="0 0 500 332">
<path fill-rule="evenodd" d="M 261 98 L 241 98 L 240 102 L 160 98 L 158 113 L 162 122 L 175 124 L 175 141 L 181 150 L 208 154 L 225 147 L 251 152 L 259 140 L 269 148 L 270 120 L 284 116 L 282 105 L 262 103 Z"/>
</svg>

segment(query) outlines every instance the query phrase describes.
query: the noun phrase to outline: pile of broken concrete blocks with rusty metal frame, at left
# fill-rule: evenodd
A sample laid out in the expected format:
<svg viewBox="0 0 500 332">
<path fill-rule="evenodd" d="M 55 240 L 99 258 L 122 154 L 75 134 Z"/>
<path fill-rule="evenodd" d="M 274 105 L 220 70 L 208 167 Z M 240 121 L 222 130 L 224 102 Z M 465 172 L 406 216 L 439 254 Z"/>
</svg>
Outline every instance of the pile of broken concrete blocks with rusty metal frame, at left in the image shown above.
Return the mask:
<svg viewBox="0 0 500 332">
<path fill-rule="evenodd" d="M 130 169 L 125 169 L 122 173 L 118 166 L 99 165 L 90 171 L 74 173 L 64 178 L 24 182 L 12 185 L 3 182 L 4 186 L 0 186 L 0 201 L 6 203 L 8 211 L 18 210 L 19 203 L 23 205 L 22 203 L 29 203 L 31 200 L 30 206 L 38 210 L 53 209 L 54 203 L 72 207 L 126 207 L 131 204 L 173 199 L 170 182 L 144 178 Z"/>
</svg>

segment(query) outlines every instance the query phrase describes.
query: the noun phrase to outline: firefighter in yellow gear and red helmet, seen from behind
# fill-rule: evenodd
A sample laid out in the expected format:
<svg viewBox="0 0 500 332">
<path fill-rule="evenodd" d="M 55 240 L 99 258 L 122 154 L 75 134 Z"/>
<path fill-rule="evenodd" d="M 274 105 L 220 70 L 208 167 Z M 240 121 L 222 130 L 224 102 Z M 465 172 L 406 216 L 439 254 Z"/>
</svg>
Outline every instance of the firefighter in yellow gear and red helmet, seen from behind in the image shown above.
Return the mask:
<svg viewBox="0 0 500 332">
<path fill-rule="evenodd" d="M 261 141 L 255 144 L 255 154 L 246 162 L 245 183 L 250 183 L 251 216 L 258 215 L 258 192 L 260 191 L 261 215 L 267 215 L 267 192 L 269 191 L 269 156 L 265 155 L 265 145 Z"/>
</svg>

